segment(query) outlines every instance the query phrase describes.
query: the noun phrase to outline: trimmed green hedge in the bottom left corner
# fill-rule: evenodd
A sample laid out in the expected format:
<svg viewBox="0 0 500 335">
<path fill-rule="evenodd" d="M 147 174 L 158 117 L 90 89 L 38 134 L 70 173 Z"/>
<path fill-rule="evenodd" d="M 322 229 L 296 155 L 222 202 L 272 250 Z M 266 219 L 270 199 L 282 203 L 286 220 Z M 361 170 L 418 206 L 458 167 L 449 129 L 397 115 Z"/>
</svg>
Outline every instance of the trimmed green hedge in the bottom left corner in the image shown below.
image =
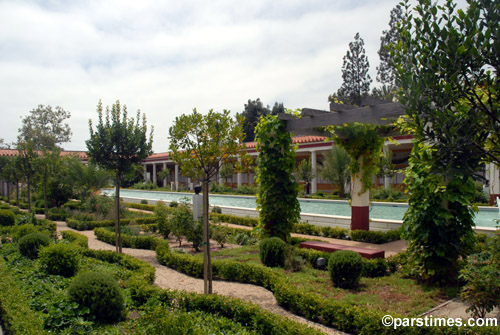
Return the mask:
<svg viewBox="0 0 500 335">
<path fill-rule="evenodd" d="M 46 334 L 43 320 L 28 305 L 3 259 L 0 260 L 0 320 L 7 334 Z"/>
</svg>

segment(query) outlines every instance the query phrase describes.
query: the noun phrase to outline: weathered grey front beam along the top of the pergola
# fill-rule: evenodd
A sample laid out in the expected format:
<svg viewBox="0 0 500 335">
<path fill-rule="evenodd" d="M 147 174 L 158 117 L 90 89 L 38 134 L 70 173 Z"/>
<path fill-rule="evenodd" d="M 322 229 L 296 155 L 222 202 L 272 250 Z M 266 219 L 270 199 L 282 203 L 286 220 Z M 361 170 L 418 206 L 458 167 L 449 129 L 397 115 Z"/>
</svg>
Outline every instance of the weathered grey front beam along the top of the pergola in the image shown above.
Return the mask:
<svg viewBox="0 0 500 335">
<path fill-rule="evenodd" d="M 391 123 L 391 121 L 383 119 L 396 118 L 405 114 L 406 112 L 399 102 L 392 102 L 372 107 L 351 109 L 348 112 L 342 113 L 328 113 L 300 119 L 287 119 L 286 123 L 288 131 L 324 126 L 339 126 L 353 122 L 386 125 Z"/>
</svg>

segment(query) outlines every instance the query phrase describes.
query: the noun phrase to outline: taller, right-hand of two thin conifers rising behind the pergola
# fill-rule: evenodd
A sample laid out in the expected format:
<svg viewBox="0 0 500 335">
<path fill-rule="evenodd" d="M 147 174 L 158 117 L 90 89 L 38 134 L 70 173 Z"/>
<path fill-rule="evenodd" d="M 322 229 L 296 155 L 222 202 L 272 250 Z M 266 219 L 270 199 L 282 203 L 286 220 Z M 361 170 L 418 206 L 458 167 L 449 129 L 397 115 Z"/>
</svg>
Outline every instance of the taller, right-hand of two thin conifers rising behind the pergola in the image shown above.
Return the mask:
<svg viewBox="0 0 500 335">
<path fill-rule="evenodd" d="M 377 81 L 382 84 L 381 88 L 374 88 L 373 95 L 384 100 L 392 100 L 397 91 L 395 64 L 391 56 L 391 48 L 398 44 L 400 36 L 398 24 L 401 22 L 403 9 L 397 5 L 391 10 L 389 30 L 384 30 L 380 37 L 380 65 L 377 66 Z"/>
</svg>

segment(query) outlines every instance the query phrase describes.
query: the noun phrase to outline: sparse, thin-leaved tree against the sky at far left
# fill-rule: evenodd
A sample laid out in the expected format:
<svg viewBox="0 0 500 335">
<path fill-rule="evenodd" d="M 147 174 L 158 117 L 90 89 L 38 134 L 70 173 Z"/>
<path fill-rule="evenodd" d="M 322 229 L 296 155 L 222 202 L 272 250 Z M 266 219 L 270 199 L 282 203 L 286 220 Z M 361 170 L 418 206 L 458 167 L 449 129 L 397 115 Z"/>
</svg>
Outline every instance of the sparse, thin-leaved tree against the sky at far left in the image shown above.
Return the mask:
<svg viewBox="0 0 500 335">
<path fill-rule="evenodd" d="M 22 141 L 30 141 L 33 150 L 38 151 L 38 172 L 43 187 L 43 199 L 45 215 L 47 215 L 47 182 L 50 177 L 53 163 L 59 159 L 60 148 L 58 144 L 68 142 L 71 139 L 71 130 L 64 120 L 69 119 L 71 114 L 57 106 L 38 105 L 36 109 L 23 118 L 19 129 L 19 138 Z"/>
</svg>

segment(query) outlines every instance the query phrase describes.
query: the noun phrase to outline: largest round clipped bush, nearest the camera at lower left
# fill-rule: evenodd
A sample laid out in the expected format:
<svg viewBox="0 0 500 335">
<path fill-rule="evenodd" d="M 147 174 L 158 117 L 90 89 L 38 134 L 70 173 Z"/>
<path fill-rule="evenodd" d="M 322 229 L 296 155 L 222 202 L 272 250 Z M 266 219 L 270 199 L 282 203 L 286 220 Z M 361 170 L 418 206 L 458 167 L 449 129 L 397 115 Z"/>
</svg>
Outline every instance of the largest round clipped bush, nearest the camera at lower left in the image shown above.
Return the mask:
<svg viewBox="0 0 500 335">
<path fill-rule="evenodd" d="M 73 279 L 68 287 L 72 301 L 88 307 L 95 320 L 112 323 L 124 311 L 124 300 L 116 280 L 107 273 L 86 272 Z"/>
</svg>

